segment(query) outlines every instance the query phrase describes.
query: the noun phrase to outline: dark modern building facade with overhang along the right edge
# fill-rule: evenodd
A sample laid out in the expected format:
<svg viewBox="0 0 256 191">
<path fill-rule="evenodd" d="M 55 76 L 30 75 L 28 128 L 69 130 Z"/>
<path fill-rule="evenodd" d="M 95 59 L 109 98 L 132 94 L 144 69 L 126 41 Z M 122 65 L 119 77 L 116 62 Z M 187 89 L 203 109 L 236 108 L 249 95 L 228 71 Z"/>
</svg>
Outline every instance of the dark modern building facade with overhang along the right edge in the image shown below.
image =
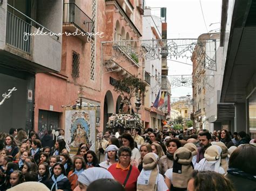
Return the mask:
<svg viewBox="0 0 256 191">
<path fill-rule="evenodd" d="M 225 1 L 220 32 L 224 68 L 220 103 L 233 103 L 226 111 L 234 114 L 229 130 L 245 131 L 251 138 L 256 137 L 255 5 L 255 1 Z M 225 108 L 218 115 L 223 111 Z"/>
</svg>

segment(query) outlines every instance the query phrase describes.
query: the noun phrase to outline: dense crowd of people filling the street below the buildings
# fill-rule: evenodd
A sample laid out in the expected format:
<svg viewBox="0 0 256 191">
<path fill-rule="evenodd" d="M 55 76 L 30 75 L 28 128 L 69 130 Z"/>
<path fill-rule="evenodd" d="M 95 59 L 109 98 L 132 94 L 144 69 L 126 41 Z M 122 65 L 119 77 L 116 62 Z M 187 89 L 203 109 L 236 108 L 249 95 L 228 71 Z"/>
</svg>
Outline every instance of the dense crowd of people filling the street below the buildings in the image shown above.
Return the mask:
<svg viewBox="0 0 256 191">
<path fill-rule="evenodd" d="M 64 131 L 0 133 L 0 190 L 256 190 L 256 139 L 244 131 L 98 133 L 76 153 Z"/>
</svg>

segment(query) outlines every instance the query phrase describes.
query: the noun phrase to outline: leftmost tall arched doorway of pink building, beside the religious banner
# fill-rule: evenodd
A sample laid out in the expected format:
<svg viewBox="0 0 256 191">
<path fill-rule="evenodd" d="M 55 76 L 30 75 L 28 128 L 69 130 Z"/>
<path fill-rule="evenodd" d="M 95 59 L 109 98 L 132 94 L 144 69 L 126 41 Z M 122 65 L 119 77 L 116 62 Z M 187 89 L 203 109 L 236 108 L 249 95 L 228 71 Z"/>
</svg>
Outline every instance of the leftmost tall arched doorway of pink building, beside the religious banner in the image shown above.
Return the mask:
<svg viewBox="0 0 256 191">
<path fill-rule="evenodd" d="M 106 131 L 106 124 L 109 117 L 114 112 L 114 101 L 111 91 L 107 91 L 104 98 L 104 120 L 103 120 L 103 131 Z"/>
</svg>

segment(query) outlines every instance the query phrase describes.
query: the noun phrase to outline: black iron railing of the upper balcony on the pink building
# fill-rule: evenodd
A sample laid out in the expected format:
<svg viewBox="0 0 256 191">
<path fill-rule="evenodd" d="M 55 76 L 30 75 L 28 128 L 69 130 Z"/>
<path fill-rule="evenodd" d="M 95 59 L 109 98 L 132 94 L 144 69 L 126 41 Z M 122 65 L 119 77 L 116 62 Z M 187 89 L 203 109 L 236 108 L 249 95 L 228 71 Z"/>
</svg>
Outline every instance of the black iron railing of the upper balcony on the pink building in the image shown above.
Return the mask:
<svg viewBox="0 0 256 191">
<path fill-rule="evenodd" d="M 63 24 L 73 24 L 84 33 L 94 32 L 94 22 L 75 3 L 64 3 Z"/>
</svg>

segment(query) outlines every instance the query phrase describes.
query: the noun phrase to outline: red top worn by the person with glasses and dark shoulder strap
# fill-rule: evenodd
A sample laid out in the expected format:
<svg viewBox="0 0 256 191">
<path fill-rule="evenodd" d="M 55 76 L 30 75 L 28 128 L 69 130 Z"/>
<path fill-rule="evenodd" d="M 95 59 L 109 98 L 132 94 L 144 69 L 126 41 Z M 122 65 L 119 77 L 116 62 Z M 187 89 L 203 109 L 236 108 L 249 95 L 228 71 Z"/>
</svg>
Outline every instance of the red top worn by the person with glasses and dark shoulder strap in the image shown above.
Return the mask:
<svg viewBox="0 0 256 191">
<path fill-rule="evenodd" d="M 114 179 L 120 182 L 122 185 L 126 179 L 126 176 L 129 172 L 129 168 L 122 169 L 119 167 L 119 163 L 111 165 L 107 170 L 113 175 Z M 137 190 L 137 179 L 139 176 L 138 168 L 132 166 L 132 171 L 129 176 L 129 179 L 126 182 L 125 190 L 126 191 L 136 191 Z"/>
</svg>

